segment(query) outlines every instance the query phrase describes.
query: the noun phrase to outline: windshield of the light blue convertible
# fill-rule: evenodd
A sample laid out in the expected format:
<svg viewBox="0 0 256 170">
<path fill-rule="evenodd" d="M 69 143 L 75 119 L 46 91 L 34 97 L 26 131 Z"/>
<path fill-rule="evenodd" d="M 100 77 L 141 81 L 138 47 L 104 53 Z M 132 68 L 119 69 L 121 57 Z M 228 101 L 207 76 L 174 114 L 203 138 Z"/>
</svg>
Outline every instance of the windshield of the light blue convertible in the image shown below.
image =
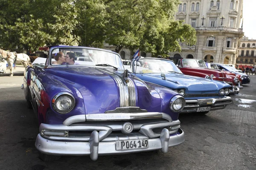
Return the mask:
<svg viewBox="0 0 256 170">
<path fill-rule="evenodd" d="M 140 59 L 140 66 L 134 67 L 136 73 L 170 73 L 182 74 L 174 62 L 165 59 Z M 135 72 L 134 71 L 134 72 Z"/>
</svg>

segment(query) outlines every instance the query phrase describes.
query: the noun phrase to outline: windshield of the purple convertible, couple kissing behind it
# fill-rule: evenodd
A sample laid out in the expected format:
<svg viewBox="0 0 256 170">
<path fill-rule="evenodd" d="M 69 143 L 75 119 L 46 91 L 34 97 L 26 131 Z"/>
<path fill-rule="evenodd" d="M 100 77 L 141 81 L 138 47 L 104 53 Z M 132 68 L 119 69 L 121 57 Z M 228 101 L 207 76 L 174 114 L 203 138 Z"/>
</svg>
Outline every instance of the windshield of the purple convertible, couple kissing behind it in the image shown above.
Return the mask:
<svg viewBox="0 0 256 170">
<path fill-rule="evenodd" d="M 81 47 L 54 48 L 50 54 L 50 65 L 104 65 L 124 70 L 119 55 L 112 51 Z"/>
</svg>

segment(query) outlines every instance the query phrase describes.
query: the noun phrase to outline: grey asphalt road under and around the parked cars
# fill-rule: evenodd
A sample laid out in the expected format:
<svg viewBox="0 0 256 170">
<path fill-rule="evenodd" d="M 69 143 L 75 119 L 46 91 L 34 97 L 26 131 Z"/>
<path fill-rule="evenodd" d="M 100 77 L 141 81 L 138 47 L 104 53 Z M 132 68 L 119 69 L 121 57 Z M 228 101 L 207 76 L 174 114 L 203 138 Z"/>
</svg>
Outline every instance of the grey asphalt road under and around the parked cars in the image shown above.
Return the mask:
<svg viewBox="0 0 256 170">
<path fill-rule="evenodd" d="M 22 72 L 0 77 L 0 170 L 256 170 L 256 76 L 233 104 L 207 115 L 182 114 L 185 142 L 160 151 L 126 155 L 38 158 L 38 125 L 20 85 Z"/>
</svg>

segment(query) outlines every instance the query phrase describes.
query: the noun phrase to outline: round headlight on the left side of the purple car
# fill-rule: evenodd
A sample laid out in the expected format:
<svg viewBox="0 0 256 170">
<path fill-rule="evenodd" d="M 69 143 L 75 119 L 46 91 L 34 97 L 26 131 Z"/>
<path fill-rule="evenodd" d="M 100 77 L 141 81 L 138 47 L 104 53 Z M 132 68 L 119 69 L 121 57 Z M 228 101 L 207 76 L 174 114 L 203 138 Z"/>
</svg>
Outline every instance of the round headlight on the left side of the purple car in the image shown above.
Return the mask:
<svg viewBox="0 0 256 170">
<path fill-rule="evenodd" d="M 58 113 L 69 113 L 74 106 L 74 97 L 66 92 L 61 92 L 52 99 L 52 107 Z"/>
</svg>

